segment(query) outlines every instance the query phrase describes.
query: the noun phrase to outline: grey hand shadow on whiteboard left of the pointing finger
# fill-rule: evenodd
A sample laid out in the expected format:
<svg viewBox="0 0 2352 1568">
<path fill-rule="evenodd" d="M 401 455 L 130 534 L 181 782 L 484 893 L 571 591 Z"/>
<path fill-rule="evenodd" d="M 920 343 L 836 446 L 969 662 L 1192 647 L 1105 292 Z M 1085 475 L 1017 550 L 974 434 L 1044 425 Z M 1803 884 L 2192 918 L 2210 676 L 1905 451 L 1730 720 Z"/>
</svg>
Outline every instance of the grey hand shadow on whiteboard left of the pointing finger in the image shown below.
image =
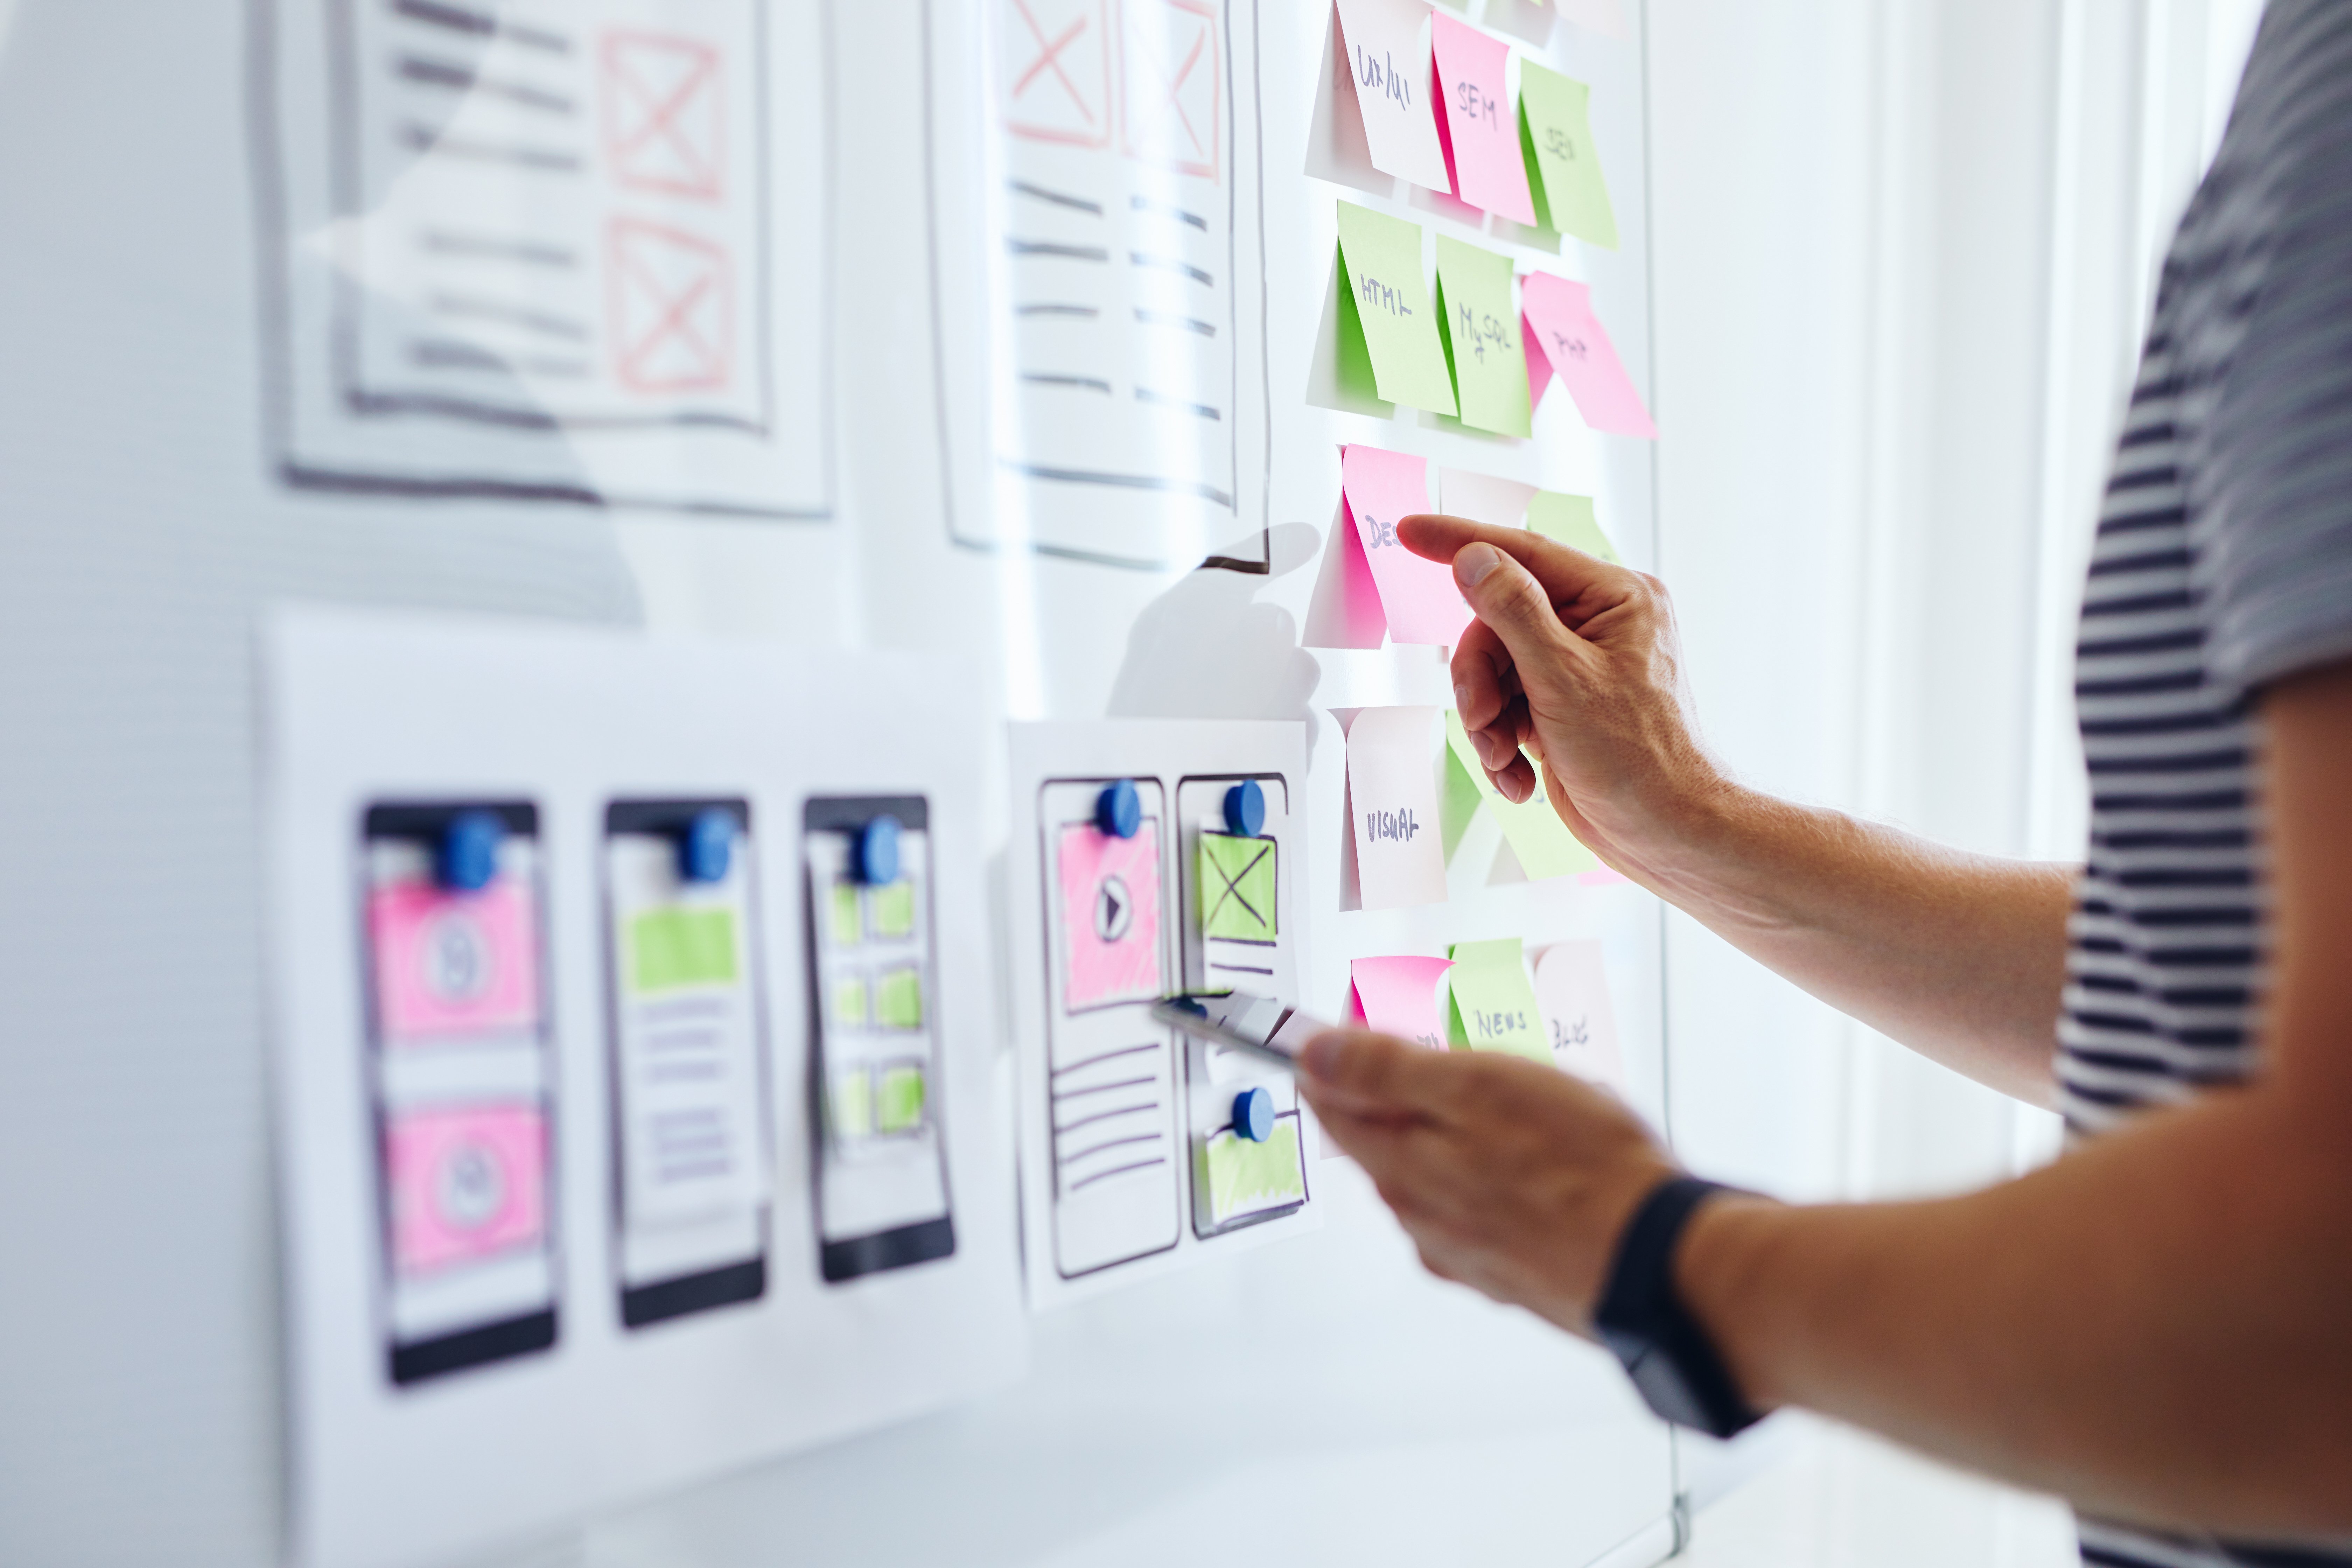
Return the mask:
<svg viewBox="0 0 2352 1568">
<path fill-rule="evenodd" d="M 1261 604 L 1270 578 L 1315 559 L 1322 541 L 1303 522 L 1268 536 L 1270 574 L 1192 571 L 1143 607 L 1110 686 L 1112 719 L 1305 719 L 1315 750 L 1319 665 L 1298 646 L 1298 621 Z"/>
</svg>

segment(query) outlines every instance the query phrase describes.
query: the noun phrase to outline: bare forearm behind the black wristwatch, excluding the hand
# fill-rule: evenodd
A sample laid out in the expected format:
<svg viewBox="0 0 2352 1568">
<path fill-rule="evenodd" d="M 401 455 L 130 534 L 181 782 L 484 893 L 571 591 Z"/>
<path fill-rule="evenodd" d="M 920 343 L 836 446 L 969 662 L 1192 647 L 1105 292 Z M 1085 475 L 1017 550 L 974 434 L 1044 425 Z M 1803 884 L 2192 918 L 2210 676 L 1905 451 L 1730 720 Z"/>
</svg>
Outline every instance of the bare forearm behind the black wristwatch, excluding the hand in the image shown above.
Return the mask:
<svg viewBox="0 0 2352 1568">
<path fill-rule="evenodd" d="M 1679 1281 L 1759 1403 L 2086 1512 L 2352 1530 L 2352 1182 L 2239 1095 L 1940 1204 L 1700 1211 Z"/>
</svg>

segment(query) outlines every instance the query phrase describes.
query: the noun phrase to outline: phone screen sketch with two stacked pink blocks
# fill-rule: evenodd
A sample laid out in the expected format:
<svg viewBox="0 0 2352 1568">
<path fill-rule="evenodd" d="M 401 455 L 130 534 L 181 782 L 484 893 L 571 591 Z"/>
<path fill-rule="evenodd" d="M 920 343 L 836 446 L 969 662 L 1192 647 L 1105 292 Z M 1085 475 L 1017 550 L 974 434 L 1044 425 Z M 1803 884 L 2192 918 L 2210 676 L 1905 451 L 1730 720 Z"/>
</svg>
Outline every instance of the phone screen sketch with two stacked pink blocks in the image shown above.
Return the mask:
<svg viewBox="0 0 2352 1568">
<path fill-rule="evenodd" d="M 555 1345 L 539 811 L 379 804 L 360 933 L 395 1385 Z"/>
</svg>

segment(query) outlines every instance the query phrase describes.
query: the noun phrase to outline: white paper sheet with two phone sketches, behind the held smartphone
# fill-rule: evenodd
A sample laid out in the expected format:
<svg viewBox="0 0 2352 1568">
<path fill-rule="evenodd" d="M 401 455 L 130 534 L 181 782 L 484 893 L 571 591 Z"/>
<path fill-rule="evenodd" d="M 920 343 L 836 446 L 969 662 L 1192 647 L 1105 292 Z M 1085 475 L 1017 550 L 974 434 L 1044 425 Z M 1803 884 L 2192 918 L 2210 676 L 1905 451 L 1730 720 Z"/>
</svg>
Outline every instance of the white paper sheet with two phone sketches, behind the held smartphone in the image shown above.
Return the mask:
<svg viewBox="0 0 2352 1568">
<path fill-rule="evenodd" d="M 1131 837 L 1096 825 L 1103 790 L 1120 780 L 1136 790 Z M 1242 780 L 1265 802 L 1249 835 L 1263 851 L 1225 820 L 1225 795 Z M 1303 780 L 1305 726 L 1291 722 L 1011 729 L 1007 886 L 1033 1305 L 1322 1222 L 1310 1180 L 1315 1126 L 1289 1077 L 1148 1016 L 1155 997 L 1178 990 L 1298 994 Z M 1251 1086 L 1275 1098 L 1277 1131 L 1296 1128 L 1296 1199 L 1235 1194 L 1216 1180 L 1235 1154 L 1232 1100 Z"/>
</svg>

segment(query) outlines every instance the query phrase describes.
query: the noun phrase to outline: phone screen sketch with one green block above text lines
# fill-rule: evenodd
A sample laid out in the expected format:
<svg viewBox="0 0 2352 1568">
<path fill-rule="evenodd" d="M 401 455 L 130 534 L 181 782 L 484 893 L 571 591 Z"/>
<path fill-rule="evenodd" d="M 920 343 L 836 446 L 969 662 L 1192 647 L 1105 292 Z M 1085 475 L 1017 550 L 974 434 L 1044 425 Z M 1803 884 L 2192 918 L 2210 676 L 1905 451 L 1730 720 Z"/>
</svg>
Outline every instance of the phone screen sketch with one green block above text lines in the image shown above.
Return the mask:
<svg viewBox="0 0 2352 1568">
<path fill-rule="evenodd" d="M 750 806 L 604 809 L 621 1324 L 767 1293 L 767 1046 Z"/>
</svg>

